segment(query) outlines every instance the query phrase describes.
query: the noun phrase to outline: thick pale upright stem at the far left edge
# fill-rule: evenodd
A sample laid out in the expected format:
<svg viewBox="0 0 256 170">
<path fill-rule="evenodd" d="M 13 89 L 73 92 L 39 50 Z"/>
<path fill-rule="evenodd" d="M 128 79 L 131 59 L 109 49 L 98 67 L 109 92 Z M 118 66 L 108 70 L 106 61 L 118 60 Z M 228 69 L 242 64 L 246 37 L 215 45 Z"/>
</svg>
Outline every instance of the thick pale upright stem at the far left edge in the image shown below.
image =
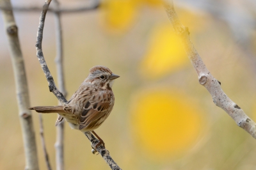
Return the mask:
<svg viewBox="0 0 256 170">
<path fill-rule="evenodd" d="M 12 9 L 10 0 L 0 0 L 1 6 Z M 12 10 L 2 10 L 4 27 L 8 38 L 8 48 L 12 58 L 13 73 L 15 78 L 17 102 L 19 107 L 20 124 L 26 157 L 25 169 L 38 169 L 38 158 L 36 153 L 36 140 L 33 127 L 31 111 L 29 111 L 28 84 L 24 66 L 24 60 L 20 49 L 18 28 L 15 24 Z"/>
</svg>

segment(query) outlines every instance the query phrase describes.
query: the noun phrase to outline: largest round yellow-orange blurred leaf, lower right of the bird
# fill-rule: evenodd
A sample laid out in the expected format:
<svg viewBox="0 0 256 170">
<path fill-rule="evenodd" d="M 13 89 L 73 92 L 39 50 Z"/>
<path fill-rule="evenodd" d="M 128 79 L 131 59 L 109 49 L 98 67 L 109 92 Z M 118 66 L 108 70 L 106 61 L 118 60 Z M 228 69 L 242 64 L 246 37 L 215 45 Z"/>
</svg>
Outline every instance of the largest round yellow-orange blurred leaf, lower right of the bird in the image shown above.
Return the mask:
<svg viewBox="0 0 256 170">
<path fill-rule="evenodd" d="M 195 144 L 202 130 L 200 109 L 176 90 L 148 89 L 132 100 L 131 129 L 148 157 L 165 160 Z"/>
</svg>

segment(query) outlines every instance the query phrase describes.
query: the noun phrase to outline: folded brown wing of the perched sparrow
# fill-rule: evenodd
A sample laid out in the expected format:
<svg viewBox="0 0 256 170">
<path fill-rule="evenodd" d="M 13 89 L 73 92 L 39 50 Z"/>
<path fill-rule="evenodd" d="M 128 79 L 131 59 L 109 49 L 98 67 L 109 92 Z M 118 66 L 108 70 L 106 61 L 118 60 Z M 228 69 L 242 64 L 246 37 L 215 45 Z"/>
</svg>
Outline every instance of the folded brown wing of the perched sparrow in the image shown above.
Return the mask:
<svg viewBox="0 0 256 170">
<path fill-rule="evenodd" d="M 83 111 L 79 116 L 79 130 L 99 127 L 113 107 L 112 99 L 113 92 L 111 90 L 98 90 L 88 98 L 84 102 Z"/>
</svg>

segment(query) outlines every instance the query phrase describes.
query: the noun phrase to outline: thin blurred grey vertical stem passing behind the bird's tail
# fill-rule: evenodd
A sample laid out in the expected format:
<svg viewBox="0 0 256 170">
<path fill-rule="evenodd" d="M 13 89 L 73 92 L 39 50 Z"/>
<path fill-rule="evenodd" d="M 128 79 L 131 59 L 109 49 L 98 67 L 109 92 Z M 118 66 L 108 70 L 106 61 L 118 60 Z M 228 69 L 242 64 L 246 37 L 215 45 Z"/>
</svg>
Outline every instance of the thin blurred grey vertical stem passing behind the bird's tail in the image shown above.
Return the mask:
<svg viewBox="0 0 256 170">
<path fill-rule="evenodd" d="M 56 33 L 56 70 L 57 70 L 57 79 L 61 93 L 63 96 L 67 96 L 67 91 L 65 89 L 65 81 L 64 81 L 64 72 L 63 72 L 63 43 L 62 43 L 62 27 L 61 27 L 61 13 L 58 12 L 60 9 L 60 3 L 57 0 L 53 1 L 54 7 L 56 8 L 56 12 L 54 12 L 55 18 L 55 33 Z M 61 104 L 59 102 L 59 104 Z M 56 169 L 63 170 L 64 169 L 64 121 L 62 121 L 56 127 Z"/>
</svg>

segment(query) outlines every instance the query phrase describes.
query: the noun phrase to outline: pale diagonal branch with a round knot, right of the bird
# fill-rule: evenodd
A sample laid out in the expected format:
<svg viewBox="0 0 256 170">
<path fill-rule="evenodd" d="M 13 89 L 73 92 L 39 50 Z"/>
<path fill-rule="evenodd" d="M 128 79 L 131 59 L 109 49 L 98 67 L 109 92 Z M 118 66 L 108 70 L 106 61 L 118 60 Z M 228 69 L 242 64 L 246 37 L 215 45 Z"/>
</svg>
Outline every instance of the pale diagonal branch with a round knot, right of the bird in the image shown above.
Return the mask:
<svg viewBox="0 0 256 170">
<path fill-rule="evenodd" d="M 197 53 L 193 43 L 189 38 L 188 27 L 184 27 L 173 7 L 172 0 L 164 0 L 164 8 L 168 15 L 168 18 L 172 22 L 175 33 L 180 37 L 182 45 L 186 50 L 188 57 L 194 66 L 196 73 L 198 74 L 198 80 L 211 94 L 214 104 L 221 107 L 227 114 L 236 121 L 236 124 L 246 130 L 252 137 L 256 139 L 256 124 L 249 118 L 244 111 L 221 89 L 220 82 L 216 80 L 209 70 L 207 70 L 204 62 Z"/>
</svg>

